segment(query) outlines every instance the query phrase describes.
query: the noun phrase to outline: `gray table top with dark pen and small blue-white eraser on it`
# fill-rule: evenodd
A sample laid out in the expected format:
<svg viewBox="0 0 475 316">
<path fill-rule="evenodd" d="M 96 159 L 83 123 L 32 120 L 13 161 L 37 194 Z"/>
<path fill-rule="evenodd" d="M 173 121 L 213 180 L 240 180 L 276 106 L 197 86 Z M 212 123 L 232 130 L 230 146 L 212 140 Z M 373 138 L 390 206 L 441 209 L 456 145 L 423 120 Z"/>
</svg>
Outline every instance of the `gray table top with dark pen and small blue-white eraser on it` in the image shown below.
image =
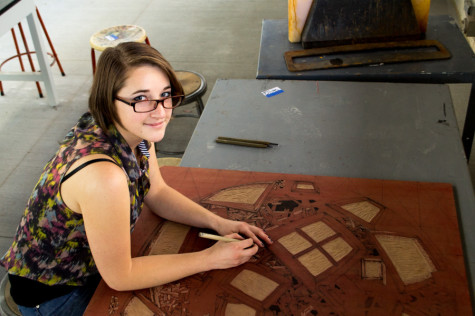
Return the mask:
<svg viewBox="0 0 475 316">
<path fill-rule="evenodd" d="M 446 85 L 218 80 L 181 166 L 450 183 L 475 288 L 475 196 Z"/>
</svg>

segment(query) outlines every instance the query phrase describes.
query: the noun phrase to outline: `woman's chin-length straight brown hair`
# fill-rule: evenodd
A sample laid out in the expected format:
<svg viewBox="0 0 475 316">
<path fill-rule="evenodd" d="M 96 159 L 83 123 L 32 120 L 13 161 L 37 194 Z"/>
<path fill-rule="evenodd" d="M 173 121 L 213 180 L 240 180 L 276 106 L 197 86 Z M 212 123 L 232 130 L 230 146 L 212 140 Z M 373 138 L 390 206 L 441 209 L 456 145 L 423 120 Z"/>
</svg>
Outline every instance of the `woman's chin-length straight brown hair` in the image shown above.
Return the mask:
<svg viewBox="0 0 475 316">
<path fill-rule="evenodd" d="M 114 99 L 123 88 L 129 70 L 142 65 L 160 68 L 170 80 L 172 94 L 184 94 L 172 66 L 155 48 L 136 42 L 106 48 L 99 57 L 89 96 L 89 111 L 105 132 L 114 122 L 122 126 Z"/>
</svg>

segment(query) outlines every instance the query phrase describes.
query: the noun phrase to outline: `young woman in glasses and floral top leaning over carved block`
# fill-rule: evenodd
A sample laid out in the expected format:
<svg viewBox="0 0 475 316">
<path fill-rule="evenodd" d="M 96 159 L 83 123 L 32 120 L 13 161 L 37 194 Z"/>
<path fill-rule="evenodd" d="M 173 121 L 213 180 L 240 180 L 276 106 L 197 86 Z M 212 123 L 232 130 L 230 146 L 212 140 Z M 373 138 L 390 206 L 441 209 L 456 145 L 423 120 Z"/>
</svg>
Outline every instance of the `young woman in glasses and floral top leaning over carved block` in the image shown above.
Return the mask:
<svg viewBox="0 0 475 316">
<path fill-rule="evenodd" d="M 271 243 L 260 228 L 221 218 L 164 182 L 154 142 L 182 99 L 173 69 L 150 46 L 101 54 L 89 112 L 46 165 L 1 261 L 24 315 L 82 315 L 99 274 L 118 291 L 147 288 L 240 265 L 261 240 Z M 165 219 L 248 239 L 132 258 L 130 232 L 144 204 Z"/>
</svg>

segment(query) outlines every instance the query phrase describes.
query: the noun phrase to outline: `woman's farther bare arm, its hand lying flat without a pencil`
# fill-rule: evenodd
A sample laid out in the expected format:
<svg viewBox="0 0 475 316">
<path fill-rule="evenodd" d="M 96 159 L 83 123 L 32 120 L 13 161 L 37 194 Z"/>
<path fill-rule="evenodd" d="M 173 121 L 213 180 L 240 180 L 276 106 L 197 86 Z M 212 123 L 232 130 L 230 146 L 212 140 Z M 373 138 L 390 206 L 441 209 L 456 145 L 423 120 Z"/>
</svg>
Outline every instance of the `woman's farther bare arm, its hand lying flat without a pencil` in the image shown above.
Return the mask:
<svg viewBox="0 0 475 316">
<path fill-rule="evenodd" d="M 256 226 L 245 222 L 224 219 L 169 187 L 163 180 L 155 155 L 155 147 L 150 148 L 150 191 L 145 198 L 147 206 L 165 219 L 199 228 L 211 228 L 221 235 L 244 234 L 263 247 L 272 243 L 267 234 Z"/>
</svg>

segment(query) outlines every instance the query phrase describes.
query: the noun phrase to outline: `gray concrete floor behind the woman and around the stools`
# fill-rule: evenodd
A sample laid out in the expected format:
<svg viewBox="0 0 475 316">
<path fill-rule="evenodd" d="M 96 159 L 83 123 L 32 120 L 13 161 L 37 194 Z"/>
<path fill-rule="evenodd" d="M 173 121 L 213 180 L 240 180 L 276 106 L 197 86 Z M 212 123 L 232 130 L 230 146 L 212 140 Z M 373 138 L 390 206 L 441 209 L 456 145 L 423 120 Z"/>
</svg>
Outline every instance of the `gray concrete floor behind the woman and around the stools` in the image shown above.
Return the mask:
<svg viewBox="0 0 475 316">
<path fill-rule="evenodd" d="M 0 97 L 0 254 L 9 247 L 27 199 L 58 142 L 87 110 L 91 84 L 89 37 L 118 24 L 144 27 L 151 44 L 175 69 L 203 74 L 211 92 L 217 78 L 253 79 L 263 19 L 287 17 L 285 0 L 37 0 L 60 61 L 62 77 L 53 67 L 60 104 L 50 107 L 32 82 L 3 82 Z M 432 0 L 431 14 L 456 17 L 451 0 Z M 26 23 L 24 23 L 26 27 Z M 0 37 L 0 60 L 14 54 L 10 33 Z M 32 46 L 31 46 L 32 47 Z M 4 71 L 19 70 L 10 61 Z M 469 85 L 451 85 L 454 106 L 463 122 Z M 181 109 L 192 111 L 193 105 Z M 185 119 L 190 120 L 190 119 Z M 183 120 L 183 122 L 185 121 Z M 186 147 L 193 119 L 169 134 Z M 190 128 L 191 126 L 191 128 Z M 178 136 L 179 135 L 179 136 Z M 475 153 L 470 164 L 475 179 Z M 0 269 L 0 278 L 4 275 Z"/>
</svg>

